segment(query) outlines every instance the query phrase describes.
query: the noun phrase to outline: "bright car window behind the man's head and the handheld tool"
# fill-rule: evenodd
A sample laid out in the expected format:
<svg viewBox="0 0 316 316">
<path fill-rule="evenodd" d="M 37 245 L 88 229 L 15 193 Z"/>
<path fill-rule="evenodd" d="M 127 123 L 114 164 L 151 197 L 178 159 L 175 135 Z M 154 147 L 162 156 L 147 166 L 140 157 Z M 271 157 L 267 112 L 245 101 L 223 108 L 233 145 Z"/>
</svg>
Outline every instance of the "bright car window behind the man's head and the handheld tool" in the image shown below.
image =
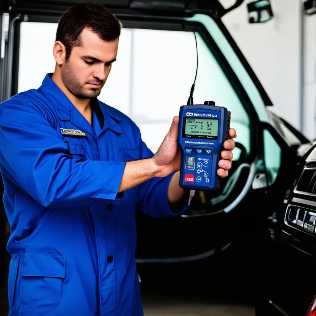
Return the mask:
<svg viewBox="0 0 316 316">
<path fill-rule="evenodd" d="M 18 92 L 39 87 L 46 73 L 54 71 L 56 30 L 57 23 L 21 22 Z M 249 116 L 209 48 L 198 33 L 196 36 L 194 104 L 212 100 L 227 107 L 231 126 L 238 133 L 236 141 L 249 153 Z M 193 32 L 123 28 L 117 61 L 99 99 L 133 119 L 155 152 L 172 117 L 187 102 L 195 72 Z M 235 160 L 239 154 L 236 149 Z"/>
</svg>

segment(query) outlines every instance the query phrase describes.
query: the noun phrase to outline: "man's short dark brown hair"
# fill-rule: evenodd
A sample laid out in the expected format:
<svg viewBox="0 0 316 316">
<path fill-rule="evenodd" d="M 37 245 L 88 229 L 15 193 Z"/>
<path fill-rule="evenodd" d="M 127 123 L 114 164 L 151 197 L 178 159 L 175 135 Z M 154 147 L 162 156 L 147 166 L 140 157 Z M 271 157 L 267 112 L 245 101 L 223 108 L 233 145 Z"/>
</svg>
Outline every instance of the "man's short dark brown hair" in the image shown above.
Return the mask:
<svg viewBox="0 0 316 316">
<path fill-rule="evenodd" d="M 56 41 L 62 42 L 66 48 L 66 61 L 72 49 L 81 45 L 81 32 L 84 28 L 98 34 L 102 40 L 113 41 L 119 38 L 122 24 L 102 4 L 74 4 L 61 16 L 56 33 Z"/>
</svg>

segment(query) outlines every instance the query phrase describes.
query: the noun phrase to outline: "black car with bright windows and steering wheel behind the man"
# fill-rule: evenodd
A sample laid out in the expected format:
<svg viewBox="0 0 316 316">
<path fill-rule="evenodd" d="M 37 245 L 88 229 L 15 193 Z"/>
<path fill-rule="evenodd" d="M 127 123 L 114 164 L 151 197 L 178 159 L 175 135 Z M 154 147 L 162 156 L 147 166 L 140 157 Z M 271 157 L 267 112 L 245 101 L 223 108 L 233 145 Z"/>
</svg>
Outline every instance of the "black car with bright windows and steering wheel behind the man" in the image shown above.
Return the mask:
<svg viewBox="0 0 316 316">
<path fill-rule="evenodd" d="M 76 2 L 2 3 L 0 101 L 40 86 L 54 67 L 58 19 Z M 141 278 L 157 264 L 194 264 L 186 273 L 213 282 L 213 292 L 222 284 L 223 295 L 249 296 L 257 316 L 306 313 L 316 293 L 316 142 L 270 110 L 268 94 L 224 26 L 221 18 L 242 1 L 228 9 L 218 0 L 94 2 L 123 24 L 118 65 L 99 98 L 129 115 L 150 149 L 186 104 L 196 67 L 194 104 L 227 107 L 238 135 L 232 169 L 218 190 L 193 191 L 188 210 L 172 218 L 137 213 Z M 6 253 L 3 207 L 1 216 Z"/>
</svg>

